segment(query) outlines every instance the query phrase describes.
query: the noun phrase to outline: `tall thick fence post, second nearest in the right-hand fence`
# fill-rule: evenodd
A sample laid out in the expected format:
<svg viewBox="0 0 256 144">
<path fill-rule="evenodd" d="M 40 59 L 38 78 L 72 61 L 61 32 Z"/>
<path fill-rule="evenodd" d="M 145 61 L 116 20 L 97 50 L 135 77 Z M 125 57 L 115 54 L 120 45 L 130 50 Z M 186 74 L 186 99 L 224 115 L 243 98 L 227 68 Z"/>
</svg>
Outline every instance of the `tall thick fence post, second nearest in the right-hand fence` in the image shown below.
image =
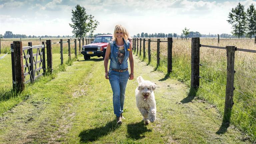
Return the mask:
<svg viewBox="0 0 256 144">
<path fill-rule="evenodd" d="M 200 38 L 191 39 L 191 88 L 199 87 Z"/>
</svg>

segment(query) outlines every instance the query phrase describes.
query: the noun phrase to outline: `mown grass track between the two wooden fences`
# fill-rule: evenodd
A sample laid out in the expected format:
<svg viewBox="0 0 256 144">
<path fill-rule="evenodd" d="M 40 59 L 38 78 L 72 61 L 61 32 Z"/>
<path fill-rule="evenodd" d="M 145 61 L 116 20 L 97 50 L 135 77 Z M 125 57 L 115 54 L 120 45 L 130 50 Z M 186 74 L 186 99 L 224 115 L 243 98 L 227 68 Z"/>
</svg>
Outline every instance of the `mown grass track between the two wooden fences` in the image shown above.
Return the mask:
<svg viewBox="0 0 256 144">
<path fill-rule="evenodd" d="M 82 57 L 79 58 L 82 60 Z M 249 143 L 232 125 L 220 130 L 214 106 L 191 100 L 182 83 L 165 79 L 137 57 L 135 77 L 157 84 L 157 121 L 145 126 L 129 80 L 125 120 L 116 126 L 112 90 L 102 59 L 76 61 L 0 119 L 0 143 Z"/>
</svg>

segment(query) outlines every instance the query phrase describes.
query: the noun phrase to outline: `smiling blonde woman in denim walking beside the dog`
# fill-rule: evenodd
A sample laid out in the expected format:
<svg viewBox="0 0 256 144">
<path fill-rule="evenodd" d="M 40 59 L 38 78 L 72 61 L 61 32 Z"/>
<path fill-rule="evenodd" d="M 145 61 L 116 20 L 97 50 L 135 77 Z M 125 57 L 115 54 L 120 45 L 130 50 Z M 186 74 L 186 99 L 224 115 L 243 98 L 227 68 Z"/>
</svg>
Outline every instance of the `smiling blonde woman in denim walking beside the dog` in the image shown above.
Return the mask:
<svg viewBox="0 0 256 144">
<path fill-rule="evenodd" d="M 109 79 L 113 91 L 114 114 L 117 117 L 117 124 L 122 123 L 125 88 L 128 79 L 133 79 L 133 57 L 132 45 L 127 39 L 129 33 L 122 25 L 116 25 L 113 39 L 108 43 L 104 59 L 105 77 Z M 110 65 L 108 71 L 108 60 Z M 128 60 L 131 73 L 128 71 Z"/>
</svg>

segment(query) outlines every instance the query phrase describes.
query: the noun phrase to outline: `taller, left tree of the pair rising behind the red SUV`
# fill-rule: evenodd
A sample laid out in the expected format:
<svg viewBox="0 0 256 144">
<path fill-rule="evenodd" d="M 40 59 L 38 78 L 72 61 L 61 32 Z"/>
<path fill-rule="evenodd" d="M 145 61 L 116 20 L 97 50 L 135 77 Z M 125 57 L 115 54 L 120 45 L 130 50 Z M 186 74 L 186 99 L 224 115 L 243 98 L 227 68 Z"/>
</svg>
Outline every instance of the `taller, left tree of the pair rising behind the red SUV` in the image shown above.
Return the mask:
<svg viewBox="0 0 256 144">
<path fill-rule="evenodd" d="M 86 35 L 88 32 L 86 20 L 88 15 L 86 14 L 85 8 L 80 5 L 76 5 L 76 10 L 72 10 L 71 21 L 73 24 L 69 24 L 73 30 L 72 33 L 75 37 L 80 37 L 80 39 Z"/>
</svg>

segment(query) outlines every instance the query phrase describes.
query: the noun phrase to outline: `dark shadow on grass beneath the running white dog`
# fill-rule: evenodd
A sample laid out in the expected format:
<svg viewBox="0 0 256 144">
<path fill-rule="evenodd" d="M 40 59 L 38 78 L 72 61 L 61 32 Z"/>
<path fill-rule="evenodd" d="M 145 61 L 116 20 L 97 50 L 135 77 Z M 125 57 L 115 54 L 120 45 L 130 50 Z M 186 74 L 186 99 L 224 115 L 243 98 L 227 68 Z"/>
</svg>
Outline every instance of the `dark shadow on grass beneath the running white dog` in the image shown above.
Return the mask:
<svg viewBox="0 0 256 144">
<path fill-rule="evenodd" d="M 144 138 L 145 135 L 143 135 L 143 133 L 151 132 L 151 131 L 152 131 L 151 129 L 148 129 L 145 126 L 144 121 L 127 125 L 128 137 L 132 138 L 132 139 L 135 139 L 135 140 Z"/>
</svg>

